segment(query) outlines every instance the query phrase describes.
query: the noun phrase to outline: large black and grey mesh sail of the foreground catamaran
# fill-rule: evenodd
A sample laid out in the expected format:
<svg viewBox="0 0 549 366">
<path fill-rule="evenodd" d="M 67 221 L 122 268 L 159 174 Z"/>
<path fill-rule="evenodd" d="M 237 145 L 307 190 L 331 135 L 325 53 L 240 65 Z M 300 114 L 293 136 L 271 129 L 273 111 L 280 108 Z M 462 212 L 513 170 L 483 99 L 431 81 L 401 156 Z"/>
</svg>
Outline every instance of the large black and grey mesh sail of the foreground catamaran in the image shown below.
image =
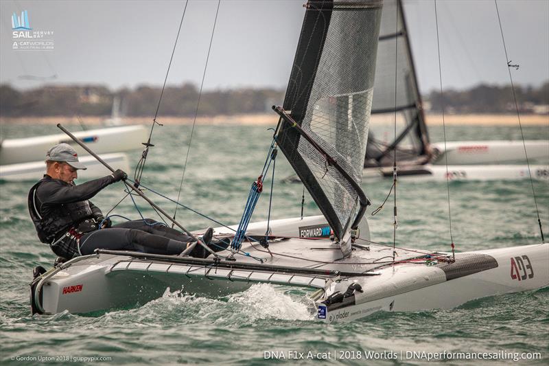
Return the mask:
<svg viewBox="0 0 549 366">
<path fill-rule="evenodd" d="M 379 0 L 309 1 L 283 108 L 360 184 L 366 152 Z M 354 219 L 358 192 L 295 128 L 278 143 L 337 238 Z"/>
</svg>

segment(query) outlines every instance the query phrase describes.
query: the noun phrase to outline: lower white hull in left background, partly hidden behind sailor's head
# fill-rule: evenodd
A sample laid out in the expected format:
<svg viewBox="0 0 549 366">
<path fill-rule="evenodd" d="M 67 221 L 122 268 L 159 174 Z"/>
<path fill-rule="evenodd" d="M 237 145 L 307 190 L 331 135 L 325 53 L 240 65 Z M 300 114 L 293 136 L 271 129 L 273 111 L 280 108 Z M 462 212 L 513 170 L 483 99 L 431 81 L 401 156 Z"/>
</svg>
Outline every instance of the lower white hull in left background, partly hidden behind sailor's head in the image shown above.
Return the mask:
<svg viewBox="0 0 549 366">
<path fill-rule="evenodd" d="M 130 171 L 130 163 L 124 153 L 105 154 L 101 155 L 101 157 L 108 165 L 115 169 L 121 169 L 125 172 Z M 105 168 L 94 157 L 88 155 L 80 157 L 79 160 L 86 165 L 87 169 L 78 170 L 78 181 L 99 178 L 100 176 L 110 174 L 110 170 Z M 44 161 L 0 165 L 0 181 L 38 181 L 45 172 L 46 163 Z"/>
</svg>

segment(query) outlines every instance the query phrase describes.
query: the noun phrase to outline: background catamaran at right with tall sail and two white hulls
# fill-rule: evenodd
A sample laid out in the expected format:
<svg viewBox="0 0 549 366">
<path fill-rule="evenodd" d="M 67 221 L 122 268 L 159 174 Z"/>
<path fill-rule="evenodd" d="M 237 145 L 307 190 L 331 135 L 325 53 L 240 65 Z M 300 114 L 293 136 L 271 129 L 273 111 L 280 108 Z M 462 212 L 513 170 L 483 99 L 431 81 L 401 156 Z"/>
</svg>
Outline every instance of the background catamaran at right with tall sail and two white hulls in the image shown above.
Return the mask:
<svg viewBox="0 0 549 366">
<path fill-rule="evenodd" d="M 522 141 L 449 141 L 446 146 L 430 141 L 401 0 L 384 1 L 374 89 L 366 176 L 393 176 L 396 151 L 401 176 L 445 180 L 447 161 L 451 179 L 528 178 Z M 549 159 L 549 141 L 524 143 L 530 159 Z M 509 165 L 516 162 L 521 163 Z M 530 168 L 536 179 L 549 177 L 549 165 Z"/>
</svg>

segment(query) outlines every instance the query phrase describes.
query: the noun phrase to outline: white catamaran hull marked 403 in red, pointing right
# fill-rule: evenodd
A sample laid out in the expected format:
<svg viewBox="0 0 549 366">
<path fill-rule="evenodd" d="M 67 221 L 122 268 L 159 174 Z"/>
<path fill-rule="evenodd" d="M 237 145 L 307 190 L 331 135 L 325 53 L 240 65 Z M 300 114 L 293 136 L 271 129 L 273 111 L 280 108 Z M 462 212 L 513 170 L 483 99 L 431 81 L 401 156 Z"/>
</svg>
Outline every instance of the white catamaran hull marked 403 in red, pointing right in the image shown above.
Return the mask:
<svg viewBox="0 0 549 366">
<path fill-rule="evenodd" d="M 467 256 L 471 260 L 456 269 L 456 264 Z M 352 282 L 358 282 L 364 292 L 355 292 L 354 304 L 336 310 L 329 310 L 318 301 L 317 319 L 334 323 L 360 319 L 381 310 L 450 309 L 482 297 L 544 288 L 549 286 L 548 264 L 549 244 L 534 244 L 458 253 L 454 264 L 397 265 L 379 271 L 379 277 L 334 284 L 332 291 L 344 291 Z M 460 275 L 472 271 L 478 272 Z"/>
</svg>

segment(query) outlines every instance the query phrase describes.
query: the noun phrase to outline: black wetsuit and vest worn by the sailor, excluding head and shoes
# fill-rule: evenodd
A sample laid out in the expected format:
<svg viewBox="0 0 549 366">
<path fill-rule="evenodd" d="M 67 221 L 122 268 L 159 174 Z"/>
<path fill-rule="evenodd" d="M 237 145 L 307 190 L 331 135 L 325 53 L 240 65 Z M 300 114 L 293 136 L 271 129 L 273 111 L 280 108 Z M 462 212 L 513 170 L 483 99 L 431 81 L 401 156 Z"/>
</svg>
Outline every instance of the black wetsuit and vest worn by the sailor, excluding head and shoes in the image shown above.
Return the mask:
<svg viewBox="0 0 549 366">
<path fill-rule="evenodd" d="M 155 254 L 179 254 L 186 249 L 190 236 L 150 219 L 98 229 L 103 214 L 88 200 L 114 181 L 113 176 L 105 176 L 72 185 L 46 174 L 31 188 L 28 198 L 40 241 L 67 259 L 91 254 L 95 249 Z"/>
</svg>

